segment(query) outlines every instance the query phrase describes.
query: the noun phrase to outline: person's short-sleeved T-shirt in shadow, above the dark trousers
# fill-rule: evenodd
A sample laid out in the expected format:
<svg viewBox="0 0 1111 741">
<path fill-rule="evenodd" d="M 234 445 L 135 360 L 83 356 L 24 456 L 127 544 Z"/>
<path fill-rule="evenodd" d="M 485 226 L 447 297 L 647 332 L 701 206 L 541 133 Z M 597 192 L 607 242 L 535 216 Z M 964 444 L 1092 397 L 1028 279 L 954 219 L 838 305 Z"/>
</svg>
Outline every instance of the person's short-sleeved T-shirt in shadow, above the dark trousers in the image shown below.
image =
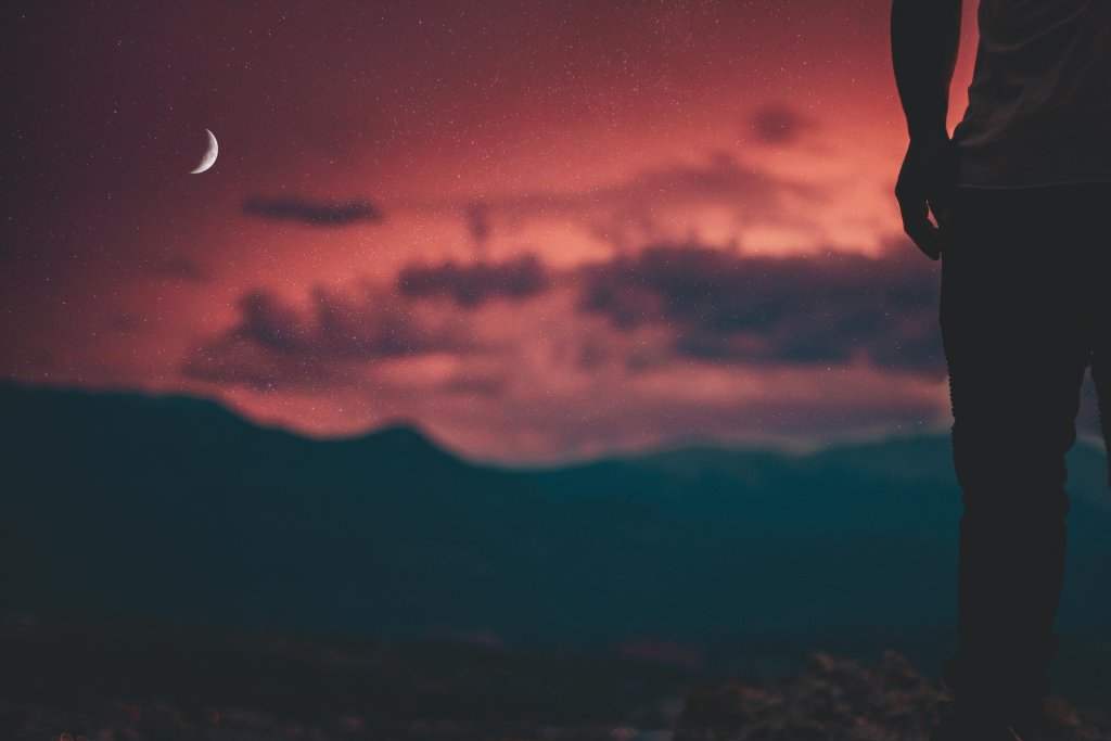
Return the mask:
<svg viewBox="0 0 1111 741">
<path fill-rule="evenodd" d="M 981 0 L 963 186 L 1111 182 L 1111 0 Z"/>
</svg>

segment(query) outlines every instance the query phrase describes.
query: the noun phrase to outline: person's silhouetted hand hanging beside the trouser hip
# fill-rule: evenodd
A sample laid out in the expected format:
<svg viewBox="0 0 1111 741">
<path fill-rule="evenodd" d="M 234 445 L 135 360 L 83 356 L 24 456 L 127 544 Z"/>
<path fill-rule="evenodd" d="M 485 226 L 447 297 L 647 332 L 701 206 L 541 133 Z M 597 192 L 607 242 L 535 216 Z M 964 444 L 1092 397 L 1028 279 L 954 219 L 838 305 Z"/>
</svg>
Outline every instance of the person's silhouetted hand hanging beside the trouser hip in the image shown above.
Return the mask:
<svg viewBox="0 0 1111 741">
<path fill-rule="evenodd" d="M 941 257 L 941 231 L 949 221 L 957 168 L 957 148 L 948 136 L 942 136 L 929 141 L 911 140 L 899 169 L 895 199 L 903 231 L 931 260 Z M 930 222 L 931 211 L 937 226 Z"/>
</svg>

